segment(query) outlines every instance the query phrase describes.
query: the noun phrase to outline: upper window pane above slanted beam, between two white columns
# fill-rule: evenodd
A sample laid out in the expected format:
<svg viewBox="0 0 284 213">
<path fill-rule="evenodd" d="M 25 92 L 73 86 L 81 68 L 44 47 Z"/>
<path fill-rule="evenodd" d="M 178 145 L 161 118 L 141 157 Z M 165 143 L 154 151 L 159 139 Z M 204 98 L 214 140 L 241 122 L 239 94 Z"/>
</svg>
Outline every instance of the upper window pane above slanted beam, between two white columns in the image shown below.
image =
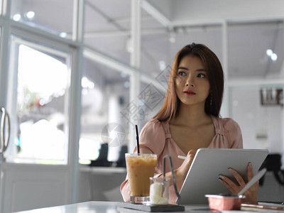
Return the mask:
<svg viewBox="0 0 284 213">
<path fill-rule="evenodd" d="M 130 1 L 85 1 L 84 43 L 129 64 Z"/>
</svg>

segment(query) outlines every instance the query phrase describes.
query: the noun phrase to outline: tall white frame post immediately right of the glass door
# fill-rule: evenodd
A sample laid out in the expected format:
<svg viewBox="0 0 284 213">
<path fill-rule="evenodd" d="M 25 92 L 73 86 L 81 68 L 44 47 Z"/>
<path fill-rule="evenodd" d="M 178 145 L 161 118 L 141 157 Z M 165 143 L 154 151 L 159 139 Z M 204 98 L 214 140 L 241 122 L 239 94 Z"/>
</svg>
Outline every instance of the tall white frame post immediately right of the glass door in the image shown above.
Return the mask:
<svg viewBox="0 0 284 213">
<path fill-rule="evenodd" d="M 81 92 L 82 92 L 82 63 L 83 63 L 83 34 L 84 34 L 84 0 L 75 0 L 73 4 L 73 29 L 72 40 L 80 43 L 75 55 L 72 57 L 72 84 L 70 103 L 70 131 L 69 160 L 72 165 L 72 187 L 71 201 L 78 202 L 78 182 L 79 182 L 79 141 L 80 141 L 80 112 L 81 112 Z M 71 157 L 72 155 L 72 157 Z"/>
</svg>

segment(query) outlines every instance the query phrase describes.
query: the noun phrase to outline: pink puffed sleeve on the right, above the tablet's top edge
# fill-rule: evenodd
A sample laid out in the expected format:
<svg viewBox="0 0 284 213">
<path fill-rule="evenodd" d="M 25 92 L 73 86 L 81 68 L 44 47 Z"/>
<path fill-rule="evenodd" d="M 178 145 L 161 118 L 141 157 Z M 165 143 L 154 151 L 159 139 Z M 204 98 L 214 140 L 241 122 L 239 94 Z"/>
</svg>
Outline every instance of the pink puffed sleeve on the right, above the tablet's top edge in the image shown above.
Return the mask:
<svg viewBox="0 0 284 213">
<path fill-rule="evenodd" d="M 229 148 L 243 148 L 241 128 L 233 119 L 226 119 L 224 127 L 229 138 Z"/>
</svg>

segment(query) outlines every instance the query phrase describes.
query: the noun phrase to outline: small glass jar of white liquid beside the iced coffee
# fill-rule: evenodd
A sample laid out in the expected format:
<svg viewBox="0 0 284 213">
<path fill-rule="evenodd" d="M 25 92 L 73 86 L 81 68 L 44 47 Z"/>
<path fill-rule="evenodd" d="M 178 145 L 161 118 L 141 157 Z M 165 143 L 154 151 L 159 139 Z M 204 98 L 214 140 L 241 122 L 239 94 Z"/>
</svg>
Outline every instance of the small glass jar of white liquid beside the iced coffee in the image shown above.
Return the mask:
<svg viewBox="0 0 284 213">
<path fill-rule="evenodd" d="M 150 184 L 150 203 L 155 205 L 167 205 L 170 178 L 150 178 Z"/>
</svg>

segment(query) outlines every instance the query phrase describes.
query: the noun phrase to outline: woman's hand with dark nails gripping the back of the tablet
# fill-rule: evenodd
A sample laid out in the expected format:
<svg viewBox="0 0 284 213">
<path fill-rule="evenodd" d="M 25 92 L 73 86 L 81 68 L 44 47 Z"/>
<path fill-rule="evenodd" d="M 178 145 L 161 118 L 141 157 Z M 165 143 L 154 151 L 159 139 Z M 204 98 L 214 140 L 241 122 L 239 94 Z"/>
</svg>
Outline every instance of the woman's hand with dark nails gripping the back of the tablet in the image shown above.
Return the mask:
<svg viewBox="0 0 284 213">
<path fill-rule="evenodd" d="M 237 195 L 241 189 L 244 188 L 244 186 L 246 185 L 246 182 L 244 182 L 244 179 L 241 178 L 241 175 L 239 175 L 239 173 L 232 169 L 229 168 L 229 172 L 234 175 L 234 178 L 236 178 L 236 181 L 239 183 L 239 185 L 236 185 L 235 182 L 233 182 L 230 178 L 224 176 L 224 175 L 219 175 L 219 180 L 223 183 L 223 185 L 225 185 L 230 192 L 233 195 Z M 249 163 L 248 165 L 248 182 L 249 180 L 251 180 L 251 178 L 253 178 L 253 167 L 251 165 L 251 163 Z M 258 182 L 256 182 L 252 187 L 249 188 L 249 190 L 246 190 L 246 192 L 244 192 L 244 195 L 246 196 L 246 198 L 244 198 L 244 202 L 245 203 L 251 203 L 251 204 L 257 204 L 257 194 L 258 194 Z"/>
</svg>

